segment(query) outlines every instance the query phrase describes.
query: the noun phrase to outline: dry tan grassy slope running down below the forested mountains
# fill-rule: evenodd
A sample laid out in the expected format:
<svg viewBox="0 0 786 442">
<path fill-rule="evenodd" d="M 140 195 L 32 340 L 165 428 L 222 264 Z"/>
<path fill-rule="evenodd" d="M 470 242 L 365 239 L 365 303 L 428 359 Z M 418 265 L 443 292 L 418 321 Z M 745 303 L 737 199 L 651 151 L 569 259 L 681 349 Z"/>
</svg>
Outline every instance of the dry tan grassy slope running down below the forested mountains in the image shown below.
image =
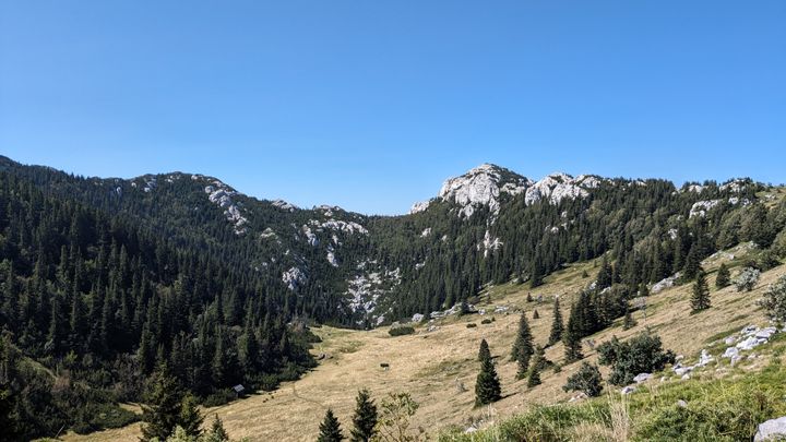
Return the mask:
<svg viewBox="0 0 786 442">
<path fill-rule="evenodd" d="M 737 255 L 734 265 L 740 261 L 741 253 L 734 250 L 731 253 Z M 719 263 L 720 260 L 705 263 L 711 273 L 711 286 Z M 562 313 L 567 321 L 571 297 L 592 279 L 581 277 L 584 270 L 593 276 L 596 271 L 593 263 L 583 263 L 551 275 L 545 286 L 534 290 L 523 286 L 495 287 L 489 291 L 489 306 L 510 306 L 526 311 L 535 341 L 543 344 L 551 324 L 553 296 L 561 297 Z M 698 315 L 690 314 L 690 286 L 664 290 L 650 298 L 646 318 L 641 312 L 634 314 L 639 322 L 636 327 L 622 331 L 618 323 L 592 338 L 597 343 L 612 335 L 626 338 L 650 326 L 662 336 L 667 348 L 684 355 L 689 361 L 694 360 L 702 348 L 713 348 L 714 355 L 718 356 L 719 348 L 710 346 L 712 342 L 747 324 L 765 323 L 755 301 L 766 285 L 783 274 L 786 274 L 784 265 L 766 272 L 757 289 L 749 294 L 738 294 L 733 287 L 719 291 L 713 289 L 713 307 Z M 543 304 L 527 303 L 525 299 L 528 291 L 535 298 L 543 295 Z M 485 303 L 480 307 L 485 307 Z M 539 320 L 532 320 L 533 309 L 538 310 Z M 252 441 L 312 440 L 327 407 L 333 408 L 346 429 L 350 422 L 355 394 L 358 389 L 366 386 L 377 398 L 389 392 L 409 392 L 420 403 L 414 418 L 415 427 L 436 435 L 451 428 L 466 428 L 472 421 L 483 420 L 484 426 L 488 426 L 501 418 L 529 410 L 534 405 L 569 399 L 571 395 L 562 392 L 561 386 L 579 365 L 567 366 L 560 373 L 547 370 L 541 374 L 543 384 L 527 390 L 526 380 L 515 381 L 515 363 L 508 360 L 519 314 L 511 312 L 495 316 L 496 321 L 487 325 L 480 324 L 483 318 L 479 315 L 445 319 L 438 321 L 439 330 L 434 332 L 427 333 L 425 327 L 418 327 L 415 335 L 401 337 L 390 337 L 386 328 L 370 332 L 317 328 L 315 332 L 324 342 L 317 345 L 313 353 L 325 353 L 330 358 L 323 360 L 315 370 L 297 382 L 283 384 L 276 392 L 211 408 L 205 414 L 218 414 L 233 438 L 247 437 Z M 478 326 L 467 328 L 469 322 Z M 479 366 L 475 358 L 481 338 L 489 342 L 492 355 L 498 357 L 504 398 L 492 407 L 474 409 L 474 384 Z M 594 351 L 586 346 L 584 351 L 587 360 L 595 360 Z M 561 344 L 549 348 L 546 357 L 560 362 Z M 382 362 L 390 363 L 390 370 L 382 370 Z M 760 370 L 766 363 L 765 358 L 760 358 L 748 363 L 743 370 Z M 711 371 L 715 375 L 714 369 Z M 710 377 L 711 373 L 704 375 Z M 457 383 L 463 383 L 466 391 L 458 392 Z M 139 435 L 138 423 L 86 437 L 69 434 L 66 440 L 136 441 Z"/>
</svg>

